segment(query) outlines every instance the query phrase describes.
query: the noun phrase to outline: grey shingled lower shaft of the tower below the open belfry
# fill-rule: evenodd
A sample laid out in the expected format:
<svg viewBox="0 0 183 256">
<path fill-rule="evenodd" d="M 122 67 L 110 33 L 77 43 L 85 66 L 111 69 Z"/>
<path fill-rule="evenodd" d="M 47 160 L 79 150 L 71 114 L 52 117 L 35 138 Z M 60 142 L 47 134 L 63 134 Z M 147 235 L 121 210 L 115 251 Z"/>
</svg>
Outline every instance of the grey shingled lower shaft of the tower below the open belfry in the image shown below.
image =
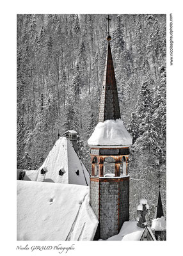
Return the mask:
<svg viewBox="0 0 183 256">
<path fill-rule="evenodd" d="M 97 237 L 118 234 L 129 220 L 129 176 L 90 177 L 90 204 L 99 220 Z"/>
</svg>

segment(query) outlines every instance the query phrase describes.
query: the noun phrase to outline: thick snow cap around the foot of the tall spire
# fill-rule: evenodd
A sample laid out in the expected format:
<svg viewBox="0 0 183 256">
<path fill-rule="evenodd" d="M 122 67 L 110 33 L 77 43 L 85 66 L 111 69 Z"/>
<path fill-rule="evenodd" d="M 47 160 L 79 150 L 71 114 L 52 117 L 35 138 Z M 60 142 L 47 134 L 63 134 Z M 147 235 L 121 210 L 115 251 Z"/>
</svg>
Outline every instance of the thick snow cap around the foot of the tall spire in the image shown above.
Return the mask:
<svg viewBox="0 0 183 256">
<path fill-rule="evenodd" d="M 106 120 L 97 124 L 88 144 L 90 146 L 132 145 L 132 138 L 121 119 Z"/>
</svg>

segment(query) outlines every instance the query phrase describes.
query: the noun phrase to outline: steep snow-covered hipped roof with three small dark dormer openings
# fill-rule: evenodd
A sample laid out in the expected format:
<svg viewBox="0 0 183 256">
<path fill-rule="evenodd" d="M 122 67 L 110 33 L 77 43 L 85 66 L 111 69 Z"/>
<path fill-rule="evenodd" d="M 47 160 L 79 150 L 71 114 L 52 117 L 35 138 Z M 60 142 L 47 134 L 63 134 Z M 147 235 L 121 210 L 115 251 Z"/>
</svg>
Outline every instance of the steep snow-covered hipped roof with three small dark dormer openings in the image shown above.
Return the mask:
<svg viewBox="0 0 183 256">
<path fill-rule="evenodd" d="M 44 175 L 41 174 L 43 168 Z M 59 175 L 60 170 L 63 175 Z M 77 170 L 79 175 L 76 174 Z M 49 152 L 44 164 L 38 169 L 36 180 L 89 186 L 90 174 L 77 156 L 72 143 L 67 138 L 61 137 Z"/>
</svg>

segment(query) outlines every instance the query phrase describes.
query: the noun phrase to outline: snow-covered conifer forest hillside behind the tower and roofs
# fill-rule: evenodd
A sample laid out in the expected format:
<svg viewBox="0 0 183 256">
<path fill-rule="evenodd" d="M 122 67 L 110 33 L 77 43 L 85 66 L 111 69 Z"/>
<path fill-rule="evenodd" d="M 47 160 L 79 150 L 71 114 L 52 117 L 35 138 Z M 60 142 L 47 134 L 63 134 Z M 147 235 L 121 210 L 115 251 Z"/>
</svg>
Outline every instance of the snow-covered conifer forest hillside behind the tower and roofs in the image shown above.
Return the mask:
<svg viewBox="0 0 183 256">
<path fill-rule="evenodd" d="M 68 129 L 90 170 L 98 123 L 107 15 L 17 15 L 17 168 L 36 170 Z M 166 216 L 166 15 L 110 15 L 120 111 L 133 138 L 130 218 L 158 187 Z M 26 159 L 25 152 L 30 158 Z"/>
</svg>

